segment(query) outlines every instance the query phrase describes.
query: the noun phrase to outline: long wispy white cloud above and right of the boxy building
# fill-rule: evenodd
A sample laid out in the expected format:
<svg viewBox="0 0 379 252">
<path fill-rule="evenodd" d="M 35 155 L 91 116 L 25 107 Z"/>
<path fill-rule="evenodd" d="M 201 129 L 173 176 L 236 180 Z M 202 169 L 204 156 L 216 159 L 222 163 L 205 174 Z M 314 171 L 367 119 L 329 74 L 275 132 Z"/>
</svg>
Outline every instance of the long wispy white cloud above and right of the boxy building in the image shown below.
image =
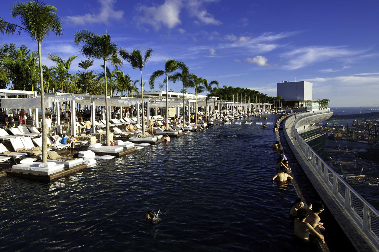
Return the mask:
<svg viewBox="0 0 379 252">
<path fill-rule="evenodd" d="M 332 58 L 342 58 L 361 53 L 362 51 L 350 51 L 346 47 L 303 47 L 298 48 L 281 56 L 290 59 L 284 68 L 294 70 L 305 67 L 314 62 L 325 61 Z"/>
</svg>

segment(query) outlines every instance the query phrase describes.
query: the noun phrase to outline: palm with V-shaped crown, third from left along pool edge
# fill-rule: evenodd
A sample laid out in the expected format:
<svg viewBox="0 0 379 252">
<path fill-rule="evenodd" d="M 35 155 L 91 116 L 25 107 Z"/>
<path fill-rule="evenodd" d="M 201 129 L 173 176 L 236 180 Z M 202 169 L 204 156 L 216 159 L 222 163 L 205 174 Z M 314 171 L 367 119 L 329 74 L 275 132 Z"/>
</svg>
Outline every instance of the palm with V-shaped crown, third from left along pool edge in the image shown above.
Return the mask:
<svg viewBox="0 0 379 252">
<path fill-rule="evenodd" d="M 146 62 L 153 55 L 153 49 L 149 48 L 146 50 L 144 57 L 142 57 L 140 50 L 133 50 L 132 53 L 128 53 L 124 49 L 120 49 L 121 58 L 125 59 L 125 61 L 129 62 L 133 69 L 139 69 L 141 72 L 141 103 L 142 103 L 142 132 L 145 134 L 145 109 L 143 103 L 143 80 L 142 80 L 142 70 L 145 67 Z M 149 118 L 148 118 L 149 119 Z"/>
</svg>

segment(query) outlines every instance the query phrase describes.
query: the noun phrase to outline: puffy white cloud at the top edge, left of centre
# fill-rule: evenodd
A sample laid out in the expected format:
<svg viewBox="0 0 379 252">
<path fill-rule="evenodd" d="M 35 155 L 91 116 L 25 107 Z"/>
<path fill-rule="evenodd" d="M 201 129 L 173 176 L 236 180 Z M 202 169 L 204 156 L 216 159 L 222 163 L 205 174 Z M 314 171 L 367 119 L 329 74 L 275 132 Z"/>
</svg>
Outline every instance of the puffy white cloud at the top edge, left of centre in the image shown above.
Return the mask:
<svg viewBox="0 0 379 252">
<path fill-rule="evenodd" d="M 135 17 L 135 20 L 140 23 L 148 23 L 158 30 L 161 25 L 165 25 L 168 28 L 174 28 L 181 24 L 179 14 L 182 8 L 182 2 L 176 0 L 165 0 L 162 5 L 157 7 L 141 5 L 138 7 L 138 11 L 143 12 L 142 17 Z"/>
</svg>

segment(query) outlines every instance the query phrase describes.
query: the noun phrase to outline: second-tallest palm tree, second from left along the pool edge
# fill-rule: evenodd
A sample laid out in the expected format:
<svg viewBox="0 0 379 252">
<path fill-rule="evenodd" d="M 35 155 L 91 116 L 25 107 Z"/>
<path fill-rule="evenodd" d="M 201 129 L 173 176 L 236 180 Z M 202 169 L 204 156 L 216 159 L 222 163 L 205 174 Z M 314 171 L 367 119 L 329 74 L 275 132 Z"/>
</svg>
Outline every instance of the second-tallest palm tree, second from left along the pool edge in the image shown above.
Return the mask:
<svg viewBox="0 0 379 252">
<path fill-rule="evenodd" d="M 106 86 L 106 62 L 110 62 L 114 67 L 121 67 L 123 62 L 118 58 L 118 48 L 115 43 L 111 42 L 111 36 L 109 34 L 94 34 L 89 30 L 77 31 L 74 36 L 74 42 L 76 45 L 84 43 L 80 47 L 80 52 L 88 57 L 94 59 L 102 59 L 104 62 L 105 73 L 105 110 L 106 110 L 106 145 L 110 145 L 109 135 L 109 108 L 108 108 L 108 90 Z"/>
</svg>

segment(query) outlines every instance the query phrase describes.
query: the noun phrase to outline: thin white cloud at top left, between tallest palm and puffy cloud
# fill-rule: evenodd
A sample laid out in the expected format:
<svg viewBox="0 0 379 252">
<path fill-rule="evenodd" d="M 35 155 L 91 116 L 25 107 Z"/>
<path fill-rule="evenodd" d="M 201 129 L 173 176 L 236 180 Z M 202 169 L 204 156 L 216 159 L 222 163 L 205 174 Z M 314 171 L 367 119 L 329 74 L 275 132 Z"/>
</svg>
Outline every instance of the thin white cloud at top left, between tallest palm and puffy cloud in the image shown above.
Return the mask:
<svg viewBox="0 0 379 252">
<path fill-rule="evenodd" d="M 124 11 L 115 10 L 114 4 L 116 0 L 99 0 L 100 11 L 97 14 L 84 14 L 78 16 L 67 16 L 64 19 L 68 23 L 74 25 L 85 25 L 91 23 L 105 23 L 110 24 L 110 20 L 120 20 L 123 18 Z"/>
</svg>

